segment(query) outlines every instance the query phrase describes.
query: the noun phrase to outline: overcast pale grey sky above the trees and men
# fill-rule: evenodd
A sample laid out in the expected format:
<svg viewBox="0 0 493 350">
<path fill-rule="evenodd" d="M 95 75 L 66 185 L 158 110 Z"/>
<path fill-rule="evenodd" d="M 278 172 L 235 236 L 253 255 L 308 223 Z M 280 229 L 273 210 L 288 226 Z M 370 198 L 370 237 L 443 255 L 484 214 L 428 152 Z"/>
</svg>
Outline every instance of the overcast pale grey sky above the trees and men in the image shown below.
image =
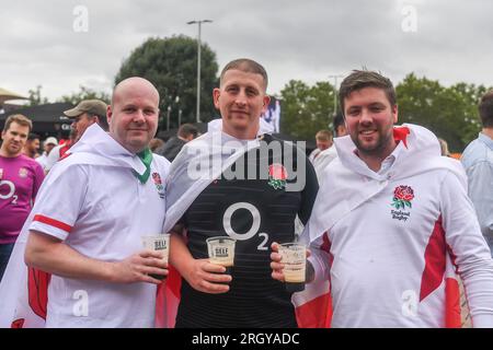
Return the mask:
<svg viewBox="0 0 493 350">
<path fill-rule="evenodd" d="M 363 66 L 394 83 L 415 72 L 493 85 L 491 0 L 0 0 L 0 88 L 27 95 L 43 85 L 50 101 L 81 84 L 111 92 L 134 48 L 150 36 L 195 38 L 186 22 L 205 19 L 214 23 L 202 39 L 219 68 L 257 60 L 271 94 Z"/>
</svg>

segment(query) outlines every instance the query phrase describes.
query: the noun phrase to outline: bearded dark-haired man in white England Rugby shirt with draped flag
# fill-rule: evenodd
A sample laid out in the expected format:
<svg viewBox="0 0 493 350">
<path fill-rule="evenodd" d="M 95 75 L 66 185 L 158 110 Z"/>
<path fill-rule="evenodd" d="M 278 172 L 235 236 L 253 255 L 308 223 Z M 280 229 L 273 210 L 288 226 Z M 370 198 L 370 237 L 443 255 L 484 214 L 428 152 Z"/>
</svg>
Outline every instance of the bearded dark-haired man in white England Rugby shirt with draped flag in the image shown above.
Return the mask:
<svg viewBox="0 0 493 350">
<path fill-rule="evenodd" d="M 460 327 L 457 271 L 472 325 L 492 327 L 493 261 L 460 164 L 427 129 L 394 126 L 395 92 L 379 73 L 354 71 L 340 101 L 349 136 L 335 139 L 306 228 L 326 253 L 311 262 L 331 282 L 332 326 Z"/>
</svg>

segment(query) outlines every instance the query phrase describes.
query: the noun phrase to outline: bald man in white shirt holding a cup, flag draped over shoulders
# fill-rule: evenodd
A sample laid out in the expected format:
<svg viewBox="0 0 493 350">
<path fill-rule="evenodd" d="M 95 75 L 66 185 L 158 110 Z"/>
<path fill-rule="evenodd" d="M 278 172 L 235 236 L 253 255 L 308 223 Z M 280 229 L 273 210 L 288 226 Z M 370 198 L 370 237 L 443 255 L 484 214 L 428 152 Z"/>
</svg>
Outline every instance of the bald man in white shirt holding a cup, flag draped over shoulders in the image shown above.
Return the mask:
<svg viewBox="0 0 493 350">
<path fill-rule="evenodd" d="M 164 221 L 169 162 L 148 149 L 158 106 L 149 81 L 124 80 L 107 108 L 110 132 L 90 126 L 46 177 L 0 287 L 0 326 L 153 326 L 161 281 L 151 273 L 168 269 L 141 236 Z M 28 290 L 15 291 L 18 280 Z"/>
</svg>

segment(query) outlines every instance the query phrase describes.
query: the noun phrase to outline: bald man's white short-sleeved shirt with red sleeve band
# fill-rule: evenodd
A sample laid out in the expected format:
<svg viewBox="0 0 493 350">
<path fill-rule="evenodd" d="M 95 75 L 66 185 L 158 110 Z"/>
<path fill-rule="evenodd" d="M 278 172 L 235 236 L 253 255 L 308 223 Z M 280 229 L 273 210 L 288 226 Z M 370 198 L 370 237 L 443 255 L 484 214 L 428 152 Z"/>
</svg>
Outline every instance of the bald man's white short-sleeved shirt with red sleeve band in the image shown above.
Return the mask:
<svg viewBox="0 0 493 350">
<path fill-rule="evenodd" d="M 142 185 L 131 168 L 80 164 L 81 158 L 71 154 L 51 171 L 33 208 L 30 230 L 100 260 L 122 260 L 141 250 L 141 235 L 161 233 L 169 162 L 154 154 L 151 175 Z M 53 276 L 46 326 L 152 327 L 156 290 L 150 283 Z"/>
</svg>

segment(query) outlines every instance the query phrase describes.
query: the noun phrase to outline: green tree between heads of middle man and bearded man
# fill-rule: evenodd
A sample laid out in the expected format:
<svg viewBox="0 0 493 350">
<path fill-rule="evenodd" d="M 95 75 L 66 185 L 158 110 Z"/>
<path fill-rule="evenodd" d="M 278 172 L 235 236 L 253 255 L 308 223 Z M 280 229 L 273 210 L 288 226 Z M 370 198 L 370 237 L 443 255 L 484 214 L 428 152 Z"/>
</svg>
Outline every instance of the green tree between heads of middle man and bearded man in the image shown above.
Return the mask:
<svg viewBox="0 0 493 350">
<path fill-rule="evenodd" d="M 309 86 L 291 80 L 280 92 L 280 130 L 299 139 L 312 140 L 317 131 L 328 129 L 333 121 L 334 88 L 329 82 Z"/>
</svg>

